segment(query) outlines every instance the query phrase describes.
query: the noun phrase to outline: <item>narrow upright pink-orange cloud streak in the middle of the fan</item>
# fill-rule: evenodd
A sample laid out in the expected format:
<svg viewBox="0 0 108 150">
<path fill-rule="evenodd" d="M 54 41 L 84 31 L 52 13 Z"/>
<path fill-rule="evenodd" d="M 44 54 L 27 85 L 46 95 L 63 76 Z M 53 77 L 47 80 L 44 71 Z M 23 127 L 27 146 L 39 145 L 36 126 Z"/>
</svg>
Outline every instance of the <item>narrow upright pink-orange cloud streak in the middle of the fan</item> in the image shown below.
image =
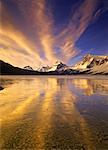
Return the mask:
<svg viewBox="0 0 108 150">
<path fill-rule="evenodd" d="M 37 0 L 36 27 L 38 29 L 39 40 L 45 52 L 45 57 L 48 61 L 55 61 L 54 54 L 54 36 L 53 36 L 53 20 L 50 14 L 46 12 L 45 0 Z"/>
</svg>

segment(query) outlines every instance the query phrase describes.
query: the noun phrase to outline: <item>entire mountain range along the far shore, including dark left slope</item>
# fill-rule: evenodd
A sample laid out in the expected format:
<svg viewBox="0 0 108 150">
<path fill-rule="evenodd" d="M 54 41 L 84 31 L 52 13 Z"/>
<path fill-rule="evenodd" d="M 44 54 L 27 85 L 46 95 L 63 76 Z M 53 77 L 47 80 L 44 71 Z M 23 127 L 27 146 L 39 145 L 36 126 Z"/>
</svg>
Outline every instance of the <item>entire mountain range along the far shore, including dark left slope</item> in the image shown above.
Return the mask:
<svg viewBox="0 0 108 150">
<path fill-rule="evenodd" d="M 52 66 L 43 66 L 36 71 L 30 66 L 23 69 L 14 67 L 0 60 L 0 74 L 3 75 L 72 75 L 72 74 L 104 74 L 108 75 L 108 56 L 86 55 L 82 61 L 69 67 L 57 61 Z"/>
</svg>

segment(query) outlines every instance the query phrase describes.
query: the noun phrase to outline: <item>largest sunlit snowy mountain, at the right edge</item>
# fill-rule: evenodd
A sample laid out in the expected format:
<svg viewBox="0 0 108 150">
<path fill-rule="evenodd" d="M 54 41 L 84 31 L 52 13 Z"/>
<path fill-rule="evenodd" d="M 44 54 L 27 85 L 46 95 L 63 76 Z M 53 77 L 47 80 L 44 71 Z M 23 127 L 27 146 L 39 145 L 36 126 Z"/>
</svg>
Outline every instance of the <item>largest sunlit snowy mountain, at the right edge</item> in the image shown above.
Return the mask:
<svg viewBox="0 0 108 150">
<path fill-rule="evenodd" d="M 108 56 L 87 54 L 72 69 L 79 70 L 80 73 L 108 74 Z"/>
</svg>

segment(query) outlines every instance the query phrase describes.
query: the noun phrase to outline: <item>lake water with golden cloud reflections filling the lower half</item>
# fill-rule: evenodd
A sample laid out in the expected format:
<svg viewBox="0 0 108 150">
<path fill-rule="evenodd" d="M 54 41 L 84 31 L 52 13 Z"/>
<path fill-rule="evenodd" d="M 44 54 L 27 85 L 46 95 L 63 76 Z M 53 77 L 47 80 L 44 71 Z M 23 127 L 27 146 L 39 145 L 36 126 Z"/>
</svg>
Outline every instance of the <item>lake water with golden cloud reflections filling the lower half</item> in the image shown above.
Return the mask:
<svg viewBox="0 0 108 150">
<path fill-rule="evenodd" d="M 107 77 L 0 78 L 1 149 L 108 149 Z"/>
</svg>

